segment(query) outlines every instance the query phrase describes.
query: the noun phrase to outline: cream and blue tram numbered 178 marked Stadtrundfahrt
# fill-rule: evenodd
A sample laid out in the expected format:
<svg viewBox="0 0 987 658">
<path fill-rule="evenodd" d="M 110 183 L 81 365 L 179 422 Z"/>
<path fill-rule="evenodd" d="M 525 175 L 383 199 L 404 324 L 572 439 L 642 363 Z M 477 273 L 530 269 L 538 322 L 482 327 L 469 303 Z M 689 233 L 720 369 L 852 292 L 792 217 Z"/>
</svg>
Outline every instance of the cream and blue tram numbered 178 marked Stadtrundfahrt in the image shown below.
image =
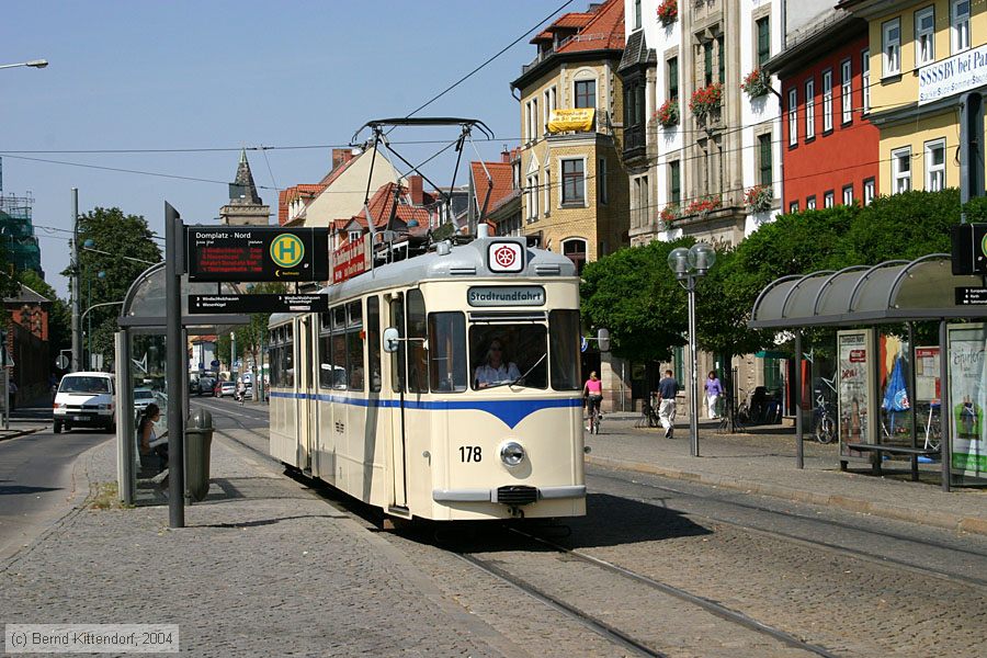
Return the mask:
<svg viewBox="0 0 987 658">
<path fill-rule="evenodd" d="M 270 321 L 271 454 L 385 513 L 586 513 L 579 280 L 522 239 L 441 242 Z M 500 343 L 511 377 L 476 373 Z"/>
</svg>

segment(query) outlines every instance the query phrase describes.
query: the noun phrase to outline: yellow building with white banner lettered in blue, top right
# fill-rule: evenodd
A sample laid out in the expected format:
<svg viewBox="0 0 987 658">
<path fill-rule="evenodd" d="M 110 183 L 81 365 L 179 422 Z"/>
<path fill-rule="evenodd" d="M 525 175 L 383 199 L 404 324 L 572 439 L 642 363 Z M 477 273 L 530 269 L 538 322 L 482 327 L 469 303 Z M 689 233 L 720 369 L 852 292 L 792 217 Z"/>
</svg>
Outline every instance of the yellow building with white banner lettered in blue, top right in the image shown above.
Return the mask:
<svg viewBox="0 0 987 658">
<path fill-rule="evenodd" d="M 878 190 L 960 186 L 960 103 L 978 77 L 987 79 L 987 48 L 979 48 L 987 44 L 987 5 L 844 0 L 839 7 L 869 23 L 862 111 L 881 131 Z"/>
</svg>

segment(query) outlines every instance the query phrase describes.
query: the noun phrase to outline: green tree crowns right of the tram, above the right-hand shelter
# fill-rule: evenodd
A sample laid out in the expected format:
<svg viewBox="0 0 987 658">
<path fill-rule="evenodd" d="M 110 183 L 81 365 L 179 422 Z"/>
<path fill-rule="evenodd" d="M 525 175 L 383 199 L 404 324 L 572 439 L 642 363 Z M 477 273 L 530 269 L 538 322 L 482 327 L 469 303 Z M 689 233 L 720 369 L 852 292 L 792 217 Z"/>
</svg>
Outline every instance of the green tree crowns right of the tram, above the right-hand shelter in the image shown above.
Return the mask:
<svg viewBox="0 0 987 658">
<path fill-rule="evenodd" d="M 968 222 L 987 223 L 987 197 L 972 200 Z M 865 207 L 836 206 L 779 216 L 717 262 L 696 285 L 696 333 L 704 350 L 745 354 L 772 347 L 774 332 L 747 328 L 753 304 L 772 281 L 786 275 L 892 259 L 949 253 L 950 226 L 960 220 L 956 190 L 882 196 Z M 583 318 L 606 327 L 617 356 L 663 360 L 684 343 L 685 294 L 668 270 L 669 251 L 691 238 L 624 249 L 583 272 Z M 892 328 L 894 330 L 894 328 Z M 904 330 L 904 329 L 903 329 Z M 918 327 L 920 340 L 926 328 Z M 818 334 L 818 336 L 816 336 Z M 829 329 L 807 332 L 822 342 Z"/>
</svg>

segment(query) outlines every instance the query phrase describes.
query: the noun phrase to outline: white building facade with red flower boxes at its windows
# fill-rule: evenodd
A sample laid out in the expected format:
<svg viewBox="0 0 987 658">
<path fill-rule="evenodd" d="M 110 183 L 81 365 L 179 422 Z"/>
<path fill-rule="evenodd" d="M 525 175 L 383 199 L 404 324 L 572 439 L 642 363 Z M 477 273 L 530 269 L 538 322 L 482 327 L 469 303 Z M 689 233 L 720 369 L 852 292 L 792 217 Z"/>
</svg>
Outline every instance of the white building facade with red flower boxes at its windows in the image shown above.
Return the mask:
<svg viewBox="0 0 987 658">
<path fill-rule="evenodd" d="M 736 245 L 781 206 L 779 102 L 763 71 L 781 49 L 781 0 L 626 5 L 631 240 Z"/>
</svg>

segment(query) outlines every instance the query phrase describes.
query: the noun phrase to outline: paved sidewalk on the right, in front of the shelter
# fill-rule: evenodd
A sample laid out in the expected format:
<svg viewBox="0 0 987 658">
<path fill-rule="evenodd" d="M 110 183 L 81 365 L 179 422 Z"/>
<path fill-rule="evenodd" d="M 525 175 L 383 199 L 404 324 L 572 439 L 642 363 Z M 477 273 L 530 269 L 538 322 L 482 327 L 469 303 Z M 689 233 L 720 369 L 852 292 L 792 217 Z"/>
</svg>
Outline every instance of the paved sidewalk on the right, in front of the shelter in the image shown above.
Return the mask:
<svg viewBox="0 0 987 658">
<path fill-rule="evenodd" d="M 610 413 L 602 434 L 586 436 L 587 464 L 637 470 L 726 489 L 838 507 L 852 512 L 987 534 L 987 490 L 939 486 L 939 464 L 922 465 L 922 481 L 901 477 L 909 462 L 885 462 L 883 477 L 869 464 L 839 469 L 838 447 L 806 440 L 805 468 L 795 467 L 795 430 L 752 428 L 718 434 L 718 421 L 700 421 L 700 457 L 689 454 L 689 420 L 677 419 L 674 439 L 661 429 L 635 429 L 639 415 Z M 897 472 L 897 474 L 895 474 Z M 929 484 L 934 483 L 934 484 Z"/>
</svg>

